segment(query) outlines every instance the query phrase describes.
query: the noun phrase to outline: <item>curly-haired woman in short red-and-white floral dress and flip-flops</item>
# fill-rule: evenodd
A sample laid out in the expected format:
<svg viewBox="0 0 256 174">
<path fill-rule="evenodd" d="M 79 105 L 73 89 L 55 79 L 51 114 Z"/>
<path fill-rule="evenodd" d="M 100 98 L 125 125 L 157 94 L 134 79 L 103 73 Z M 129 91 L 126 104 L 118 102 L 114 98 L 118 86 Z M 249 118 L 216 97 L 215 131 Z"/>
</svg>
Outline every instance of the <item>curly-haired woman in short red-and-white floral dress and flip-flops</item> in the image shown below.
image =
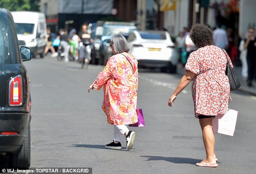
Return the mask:
<svg viewBox="0 0 256 174">
<path fill-rule="evenodd" d="M 217 114 L 225 114 L 228 111 L 230 90 L 229 79 L 225 74 L 227 53 L 213 45 L 212 30 L 206 25 L 193 25 L 190 37 L 198 49 L 189 55 L 185 74 L 170 97 L 168 105 L 172 106 L 177 95 L 193 80 L 194 113 L 199 119 L 206 151 L 206 158 L 196 166 L 217 167 L 212 119 Z M 228 59 L 233 66 L 229 56 Z"/>
</svg>

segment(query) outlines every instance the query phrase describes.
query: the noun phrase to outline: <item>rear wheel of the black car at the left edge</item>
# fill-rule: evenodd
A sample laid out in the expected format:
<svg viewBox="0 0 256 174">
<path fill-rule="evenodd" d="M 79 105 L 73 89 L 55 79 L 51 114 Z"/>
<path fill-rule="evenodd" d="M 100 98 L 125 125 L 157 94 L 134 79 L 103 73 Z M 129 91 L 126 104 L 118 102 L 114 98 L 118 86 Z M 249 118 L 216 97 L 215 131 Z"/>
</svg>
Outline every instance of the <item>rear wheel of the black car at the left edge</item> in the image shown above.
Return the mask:
<svg viewBox="0 0 256 174">
<path fill-rule="evenodd" d="M 28 169 L 30 166 L 30 126 L 27 129 L 26 137 L 22 147 L 13 153 L 10 158 L 12 168 Z"/>
</svg>

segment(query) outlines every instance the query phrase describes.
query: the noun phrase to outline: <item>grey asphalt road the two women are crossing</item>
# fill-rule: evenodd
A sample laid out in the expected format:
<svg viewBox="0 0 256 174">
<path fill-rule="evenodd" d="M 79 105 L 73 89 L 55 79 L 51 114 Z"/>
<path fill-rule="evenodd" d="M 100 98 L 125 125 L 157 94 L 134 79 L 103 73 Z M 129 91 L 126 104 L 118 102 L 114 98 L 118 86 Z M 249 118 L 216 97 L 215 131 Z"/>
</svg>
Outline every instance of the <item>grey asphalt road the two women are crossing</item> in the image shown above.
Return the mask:
<svg viewBox="0 0 256 174">
<path fill-rule="evenodd" d="M 24 62 L 31 80 L 31 167 L 91 167 L 93 174 L 253 174 L 256 171 L 256 98 L 232 92 L 230 108 L 239 111 L 234 136 L 216 134 L 218 168 L 197 167 L 205 157 L 201 129 L 193 116 L 191 84 L 168 98 L 180 74 L 139 70 L 138 106 L 145 127 L 127 151 L 105 149 L 113 126 L 101 110 L 103 89 L 87 89 L 103 70 L 46 56 Z"/>
</svg>

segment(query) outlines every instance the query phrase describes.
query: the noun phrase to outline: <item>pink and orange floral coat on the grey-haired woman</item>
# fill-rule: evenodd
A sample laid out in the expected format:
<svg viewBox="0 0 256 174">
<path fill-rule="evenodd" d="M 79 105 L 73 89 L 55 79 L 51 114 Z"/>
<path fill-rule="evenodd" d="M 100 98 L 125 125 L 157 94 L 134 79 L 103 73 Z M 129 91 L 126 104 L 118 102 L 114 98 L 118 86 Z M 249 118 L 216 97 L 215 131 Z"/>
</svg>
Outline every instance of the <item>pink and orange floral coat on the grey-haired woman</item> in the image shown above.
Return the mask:
<svg viewBox="0 0 256 174">
<path fill-rule="evenodd" d="M 138 122 L 136 114 L 138 90 L 138 61 L 127 53 L 113 55 L 93 83 L 99 90 L 104 86 L 102 109 L 111 125 L 128 125 Z M 133 68 L 133 71 L 132 71 Z"/>
</svg>

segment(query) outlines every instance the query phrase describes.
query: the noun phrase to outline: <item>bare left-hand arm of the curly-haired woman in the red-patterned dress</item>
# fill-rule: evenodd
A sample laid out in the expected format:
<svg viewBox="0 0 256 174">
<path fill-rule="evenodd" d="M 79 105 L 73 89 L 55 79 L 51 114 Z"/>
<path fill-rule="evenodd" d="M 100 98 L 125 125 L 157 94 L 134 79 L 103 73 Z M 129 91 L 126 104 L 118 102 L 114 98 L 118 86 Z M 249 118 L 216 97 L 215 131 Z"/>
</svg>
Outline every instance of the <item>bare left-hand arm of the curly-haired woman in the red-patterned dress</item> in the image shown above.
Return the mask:
<svg viewBox="0 0 256 174">
<path fill-rule="evenodd" d="M 180 79 L 180 82 L 177 88 L 174 90 L 172 96 L 169 98 L 168 105 L 172 106 L 174 100 L 176 99 L 177 95 L 189 84 L 189 82 L 193 79 L 195 74 L 191 71 L 186 71 L 185 74 Z"/>
</svg>

